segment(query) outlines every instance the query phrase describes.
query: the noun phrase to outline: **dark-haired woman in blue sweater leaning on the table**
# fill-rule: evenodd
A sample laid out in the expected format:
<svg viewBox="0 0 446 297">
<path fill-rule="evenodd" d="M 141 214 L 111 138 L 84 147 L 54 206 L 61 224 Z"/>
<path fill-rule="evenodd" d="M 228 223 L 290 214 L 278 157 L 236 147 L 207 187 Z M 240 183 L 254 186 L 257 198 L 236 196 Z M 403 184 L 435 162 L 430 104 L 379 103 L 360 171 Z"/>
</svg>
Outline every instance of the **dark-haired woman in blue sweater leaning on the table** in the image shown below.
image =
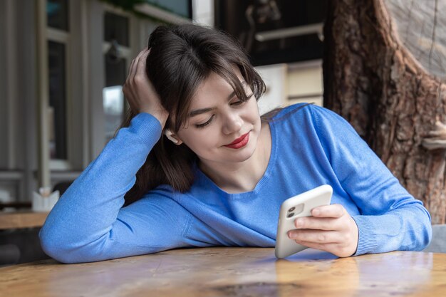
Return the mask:
<svg viewBox="0 0 446 297">
<path fill-rule="evenodd" d="M 49 256 L 271 247 L 281 202 L 321 184 L 332 204 L 296 220 L 297 243 L 341 257 L 427 246 L 427 210 L 346 120 L 315 105 L 259 115 L 265 85 L 232 38 L 160 26 L 148 48 L 123 88 L 128 120 L 41 229 Z"/>
</svg>

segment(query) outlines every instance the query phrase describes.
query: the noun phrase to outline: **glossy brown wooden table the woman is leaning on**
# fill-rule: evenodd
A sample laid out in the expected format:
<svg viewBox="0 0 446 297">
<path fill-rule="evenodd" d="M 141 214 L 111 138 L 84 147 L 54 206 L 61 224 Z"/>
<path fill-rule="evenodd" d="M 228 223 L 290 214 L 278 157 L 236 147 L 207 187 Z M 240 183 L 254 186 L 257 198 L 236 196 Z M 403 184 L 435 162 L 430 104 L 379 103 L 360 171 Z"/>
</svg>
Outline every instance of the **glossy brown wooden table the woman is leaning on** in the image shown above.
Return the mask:
<svg viewBox="0 0 446 297">
<path fill-rule="evenodd" d="M 0 296 L 446 296 L 446 254 L 396 251 L 345 259 L 307 249 L 177 249 L 89 264 L 0 269 Z"/>
</svg>

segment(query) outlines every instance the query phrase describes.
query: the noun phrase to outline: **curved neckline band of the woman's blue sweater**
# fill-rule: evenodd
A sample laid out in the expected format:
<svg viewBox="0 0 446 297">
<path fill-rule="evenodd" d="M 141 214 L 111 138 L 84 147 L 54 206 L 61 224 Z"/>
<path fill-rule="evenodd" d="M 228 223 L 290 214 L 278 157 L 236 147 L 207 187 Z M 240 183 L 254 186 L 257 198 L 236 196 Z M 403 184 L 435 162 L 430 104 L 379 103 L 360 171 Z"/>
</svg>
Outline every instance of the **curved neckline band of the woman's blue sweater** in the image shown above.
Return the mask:
<svg viewBox="0 0 446 297">
<path fill-rule="evenodd" d="M 251 190 L 249 192 L 241 192 L 241 193 L 228 193 L 228 192 L 224 191 L 223 189 L 221 189 L 219 186 L 217 186 L 217 184 L 215 184 L 214 181 L 212 181 L 212 179 L 210 179 L 206 174 L 204 174 L 204 172 L 202 172 L 202 170 L 199 169 L 197 164 L 195 164 L 197 177 L 199 177 L 199 179 L 202 180 L 202 182 L 204 182 L 204 184 L 207 184 L 210 187 L 212 187 L 212 189 L 214 189 L 214 191 L 219 193 L 219 195 L 222 197 L 243 198 L 243 197 L 251 197 L 251 196 L 259 193 L 261 191 L 261 189 L 264 187 L 264 184 L 266 184 L 268 182 L 269 178 L 271 177 L 273 167 L 276 162 L 276 146 L 277 146 L 276 145 L 276 139 L 277 139 L 276 130 L 275 130 L 274 125 L 272 125 L 271 122 L 269 122 L 268 125 L 269 125 L 269 131 L 271 134 L 271 153 L 269 155 L 269 161 L 268 161 L 268 165 L 266 166 L 264 175 L 261 177 L 259 182 L 257 182 L 256 187 L 254 187 L 253 190 Z"/>
</svg>

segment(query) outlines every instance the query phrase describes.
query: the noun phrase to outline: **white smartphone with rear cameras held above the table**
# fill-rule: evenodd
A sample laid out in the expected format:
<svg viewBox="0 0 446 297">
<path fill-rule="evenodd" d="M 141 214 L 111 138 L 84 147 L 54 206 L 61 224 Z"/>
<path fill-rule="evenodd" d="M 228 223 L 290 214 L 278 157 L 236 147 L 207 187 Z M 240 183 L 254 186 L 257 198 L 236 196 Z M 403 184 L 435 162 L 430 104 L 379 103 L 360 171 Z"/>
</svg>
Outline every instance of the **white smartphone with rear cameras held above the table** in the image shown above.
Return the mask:
<svg viewBox="0 0 446 297">
<path fill-rule="evenodd" d="M 333 194 L 333 188 L 328 184 L 323 184 L 282 202 L 274 249 L 276 258 L 283 259 L 307 248 L 290 239 L 288 231 L 296 229 L 294 221 L 298 217 L 311 217 L 311 209 L 330 205 L 331 194 Z"/>
</svg>

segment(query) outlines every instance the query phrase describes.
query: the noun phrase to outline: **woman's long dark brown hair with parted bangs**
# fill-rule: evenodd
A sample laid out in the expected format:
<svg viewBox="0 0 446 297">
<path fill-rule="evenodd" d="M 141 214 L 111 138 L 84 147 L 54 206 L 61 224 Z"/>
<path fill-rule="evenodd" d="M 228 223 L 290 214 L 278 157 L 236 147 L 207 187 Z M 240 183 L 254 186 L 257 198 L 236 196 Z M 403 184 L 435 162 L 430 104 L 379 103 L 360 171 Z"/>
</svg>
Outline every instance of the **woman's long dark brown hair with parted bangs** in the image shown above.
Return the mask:
<svg viewBox="0 0 446 297">
<path fill-rule="evenodd" d="M 264 81 L 242 46 L 222 31 L 193 24 L 159 26 L 150 34 L 148 48 L 147 76 L 170 114 L 165 128 L 174 132 L 187 123 L 192 96 L 211 72 L 227 80 L 239 100 L 248 100 L 251 94 L 245 93 L 234 66 L 242 73 L 256 100 L 265 92 Z M 276 111 L 262 116 L 262 120 L 271 118 Z M 129 110 L 121 127 L 128 127 L 134 116 L 135 112 Z M 189 147 L 174 145 L 162 134 L 136 174 L 132 189 L 125 194 L 125 205 L 137 201 L 160 184 L 186 192 L 194 182 L 192 165 L 196 160 L 197 156 Z"/>
</svg>

